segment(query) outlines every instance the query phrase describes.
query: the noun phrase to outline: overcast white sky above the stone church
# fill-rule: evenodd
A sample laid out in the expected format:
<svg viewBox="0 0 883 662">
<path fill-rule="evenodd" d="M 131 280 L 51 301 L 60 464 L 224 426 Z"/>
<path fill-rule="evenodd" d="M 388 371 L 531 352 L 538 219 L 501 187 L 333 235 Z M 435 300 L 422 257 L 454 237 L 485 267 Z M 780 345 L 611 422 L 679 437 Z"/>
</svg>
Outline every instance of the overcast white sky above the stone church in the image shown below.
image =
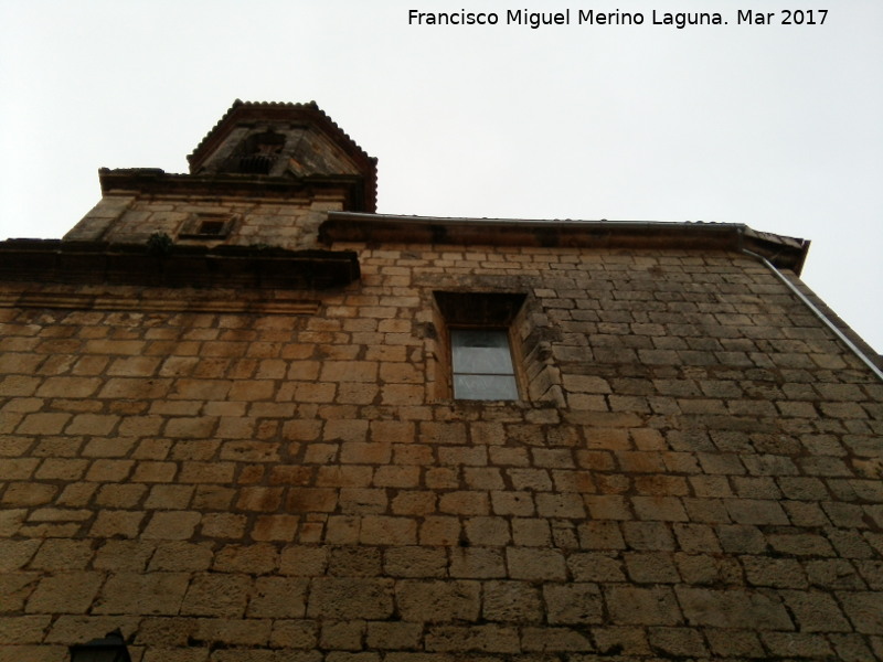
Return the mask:
<svg viewBox="0 0 883 662">
<path fill-rule="evenodd" d="M 60 237 L 97 169 L 187 171 L 235 98 L 316 100 L 379 211 L 715 221 L 812 241 L 804 279 L 883 350 L 883 2 L 0 0 L 0 239 Z M 408 9 L 497 12 L 408 25 Z M 506 24 L 507 10 L 570 25 Z M 642 12 L 579 25 L 578 11 Z M 652 10 L 726 25 L 653 25 Z M 738 10 L 774 24 L 737 25 Z M 808 14 L 805 14 L 805 20 Z"/>
</svg>

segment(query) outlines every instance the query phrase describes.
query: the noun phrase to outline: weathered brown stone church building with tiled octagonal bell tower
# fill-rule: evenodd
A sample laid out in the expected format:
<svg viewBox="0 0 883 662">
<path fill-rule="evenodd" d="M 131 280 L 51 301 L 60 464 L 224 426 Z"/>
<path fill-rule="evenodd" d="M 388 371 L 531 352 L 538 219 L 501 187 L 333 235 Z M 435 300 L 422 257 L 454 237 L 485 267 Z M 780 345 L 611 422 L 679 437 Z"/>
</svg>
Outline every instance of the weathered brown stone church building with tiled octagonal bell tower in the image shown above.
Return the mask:
<svg viewBox="0 0 883 662">
<path fill-rule="evenodd" d="M 0 661 L 883 660 L 883 374 L 807 242 L 377 214 L 313 104 L 189 161 L 0 243 Z"/>
</svg>

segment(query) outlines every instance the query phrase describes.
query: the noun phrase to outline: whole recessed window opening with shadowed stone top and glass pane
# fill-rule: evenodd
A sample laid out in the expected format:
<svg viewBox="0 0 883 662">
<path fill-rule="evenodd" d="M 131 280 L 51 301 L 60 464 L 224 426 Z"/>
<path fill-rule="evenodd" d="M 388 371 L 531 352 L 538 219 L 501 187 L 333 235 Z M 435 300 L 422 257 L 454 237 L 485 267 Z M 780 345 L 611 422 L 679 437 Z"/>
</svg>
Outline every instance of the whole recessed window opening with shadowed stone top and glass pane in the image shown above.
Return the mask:
<svg viewBox="0 0 883 662">
<path fill-rule="evenodd" d="M 519 363 L 511 333 L 524 295 L 435 292 L 438 320 L 438 395 L 462 401 L 517 401 Z"/>
</svg>

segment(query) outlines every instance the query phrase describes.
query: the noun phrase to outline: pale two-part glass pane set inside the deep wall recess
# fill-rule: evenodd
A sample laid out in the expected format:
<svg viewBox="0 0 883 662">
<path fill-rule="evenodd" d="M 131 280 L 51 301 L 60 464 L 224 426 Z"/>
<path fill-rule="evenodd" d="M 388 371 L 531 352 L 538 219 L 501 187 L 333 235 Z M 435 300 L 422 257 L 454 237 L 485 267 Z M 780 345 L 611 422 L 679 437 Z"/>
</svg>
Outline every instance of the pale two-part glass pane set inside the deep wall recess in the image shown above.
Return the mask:
<svg viewBox="0 0 883 662">
<path fill-rule="evenodd" d="M 457 399 L 518 399 L 506 329 L 451 329 L 450 359 Z"/>
</svg>

